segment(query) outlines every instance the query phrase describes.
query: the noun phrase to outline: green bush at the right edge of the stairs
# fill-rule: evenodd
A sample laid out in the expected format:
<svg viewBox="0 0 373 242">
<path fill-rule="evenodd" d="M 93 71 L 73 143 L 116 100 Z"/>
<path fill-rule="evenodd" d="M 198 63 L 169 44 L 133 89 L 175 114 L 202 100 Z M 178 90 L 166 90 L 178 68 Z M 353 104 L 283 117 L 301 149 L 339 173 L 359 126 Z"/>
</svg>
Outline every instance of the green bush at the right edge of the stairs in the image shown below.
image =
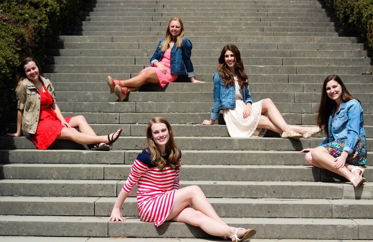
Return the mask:
<svg viewBox="0 0 373 242">
<path fill-rule="evenodd" d="M 326 8 L 337 18 L 340 32 L 362 37 L 373 50 L 373 0 L 325 0 Z"/>
</svg>

